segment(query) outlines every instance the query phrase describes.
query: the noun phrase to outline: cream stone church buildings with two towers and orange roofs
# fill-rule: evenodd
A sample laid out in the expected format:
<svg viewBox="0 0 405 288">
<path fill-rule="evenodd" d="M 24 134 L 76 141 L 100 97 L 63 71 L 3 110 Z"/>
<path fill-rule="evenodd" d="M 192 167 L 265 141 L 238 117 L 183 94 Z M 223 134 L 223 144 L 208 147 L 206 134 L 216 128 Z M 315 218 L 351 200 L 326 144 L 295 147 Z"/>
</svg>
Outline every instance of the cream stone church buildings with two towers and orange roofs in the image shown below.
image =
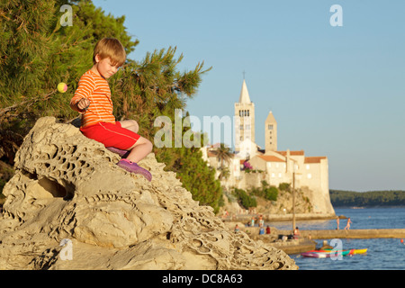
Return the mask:
<svg viewBox="0 0 405 288">
<path fill-rule="evenodd" d="M 279 150 L 277 147 L 277 121 L 273 112 L 268 112 L 265 123 L 265 149 L 256 144 L 255 103 L 250 99 L 245 79 L 235 107 L 235 154 L 229 161 L 229 177 L 222 181 L 226 187 L 247 190 L 266 180 L 270 185 L 291 184 L 295 188 L 307 187 L 313 193 L 314 212 L 334 213 L 329 198 L 328 157 L 307 157 L 303 150 Z M 297 123 L 298 127 L 298 123 Z M 215 148 L 203 152 L 209 165 L 218 167 Z M 245 173 L 249 163 L 259 173 Z M 255 176 L 256 175 L 256 176 Z"/>
</svg>

